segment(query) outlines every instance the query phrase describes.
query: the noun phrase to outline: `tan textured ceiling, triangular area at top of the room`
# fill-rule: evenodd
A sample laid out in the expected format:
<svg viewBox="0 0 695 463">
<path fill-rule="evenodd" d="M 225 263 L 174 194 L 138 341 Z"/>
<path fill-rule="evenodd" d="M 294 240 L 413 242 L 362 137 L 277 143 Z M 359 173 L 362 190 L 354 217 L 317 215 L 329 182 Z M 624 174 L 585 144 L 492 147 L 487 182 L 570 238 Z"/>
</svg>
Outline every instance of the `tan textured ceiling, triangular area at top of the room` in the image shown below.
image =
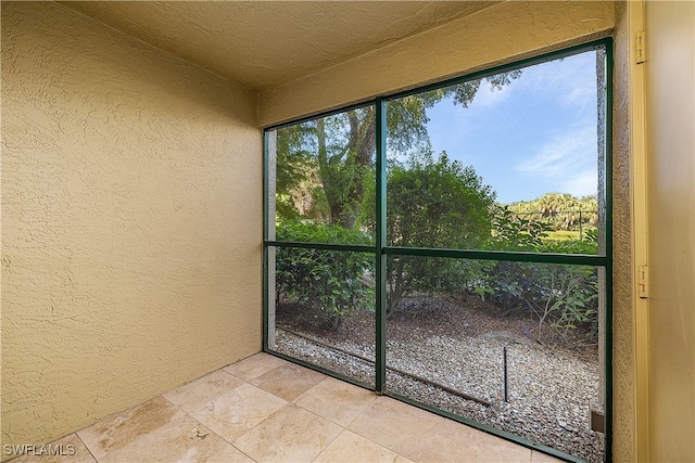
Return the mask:
<svg viewBox="0 0 695 463">
<path fill-rule="evenodd" d="M 263 91 L 472 14 L 490 1 L 62 2 Z"/>
</svg>

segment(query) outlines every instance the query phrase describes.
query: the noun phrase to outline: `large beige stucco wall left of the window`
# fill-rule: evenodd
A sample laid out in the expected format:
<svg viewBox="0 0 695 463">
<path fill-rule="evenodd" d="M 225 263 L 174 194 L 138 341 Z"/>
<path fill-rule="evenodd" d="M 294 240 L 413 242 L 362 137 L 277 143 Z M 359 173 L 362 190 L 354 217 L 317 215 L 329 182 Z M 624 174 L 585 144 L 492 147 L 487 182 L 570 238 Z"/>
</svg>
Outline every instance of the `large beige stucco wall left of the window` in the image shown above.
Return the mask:
<svg viewBox="0 0 695 463">
<path fill-rule="evenodd" d="M 2 443 L 262 347 L 255 94 L 54 3 L 2 2 Z"/>
</svg>

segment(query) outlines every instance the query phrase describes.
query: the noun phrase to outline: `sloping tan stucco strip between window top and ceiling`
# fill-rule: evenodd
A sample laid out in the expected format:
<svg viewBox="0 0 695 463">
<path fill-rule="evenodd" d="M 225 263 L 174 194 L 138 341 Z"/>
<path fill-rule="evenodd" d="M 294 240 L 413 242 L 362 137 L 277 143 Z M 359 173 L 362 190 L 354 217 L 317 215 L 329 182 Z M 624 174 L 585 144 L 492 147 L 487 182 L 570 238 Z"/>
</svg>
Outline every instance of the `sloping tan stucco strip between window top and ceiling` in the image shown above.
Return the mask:
<svg viewBox="0 0 695 463">
<path fill-rule="evenodd" d="M 612 2 L 510 1 L 261 93 L 268 126 L 606 36 Z"/>
</svg>

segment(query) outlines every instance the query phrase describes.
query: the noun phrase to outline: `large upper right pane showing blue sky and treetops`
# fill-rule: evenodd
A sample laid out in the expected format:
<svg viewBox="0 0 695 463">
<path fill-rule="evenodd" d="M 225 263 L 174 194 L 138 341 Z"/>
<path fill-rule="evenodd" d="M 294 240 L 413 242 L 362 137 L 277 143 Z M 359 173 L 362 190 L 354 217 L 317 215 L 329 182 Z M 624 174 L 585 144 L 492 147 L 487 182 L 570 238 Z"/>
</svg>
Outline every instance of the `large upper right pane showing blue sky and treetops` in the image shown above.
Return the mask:
<svg viewBox="0 0 695 463">
<path fill-rule="evenodd" d="M 388 102 L 391 246 L 597 254 L 602 50 Z"/>
</svg>

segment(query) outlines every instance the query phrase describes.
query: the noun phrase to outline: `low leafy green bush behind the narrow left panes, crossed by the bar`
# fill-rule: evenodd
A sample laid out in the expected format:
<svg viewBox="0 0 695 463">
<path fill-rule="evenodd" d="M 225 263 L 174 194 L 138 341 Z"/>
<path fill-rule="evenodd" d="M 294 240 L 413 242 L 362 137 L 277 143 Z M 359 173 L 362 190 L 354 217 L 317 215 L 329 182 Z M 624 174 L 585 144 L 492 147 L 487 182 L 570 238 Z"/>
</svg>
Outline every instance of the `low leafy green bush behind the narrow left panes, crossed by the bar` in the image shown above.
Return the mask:
<svg viewBox="0 0 695 463">
<path fill-rule="evenodd" d="M 283 241 L 367 244 L 364 233 L 338 226 L 286 222 L 278 226 Z M 351 311 L 369 307 L 371 290 L 361 280 L 374 269 L 366 253 L 279 247 L 276 254 L 278 305 L 300 308 L 300 317 L 317 319 L 332 329 Z"/>
</svg>

